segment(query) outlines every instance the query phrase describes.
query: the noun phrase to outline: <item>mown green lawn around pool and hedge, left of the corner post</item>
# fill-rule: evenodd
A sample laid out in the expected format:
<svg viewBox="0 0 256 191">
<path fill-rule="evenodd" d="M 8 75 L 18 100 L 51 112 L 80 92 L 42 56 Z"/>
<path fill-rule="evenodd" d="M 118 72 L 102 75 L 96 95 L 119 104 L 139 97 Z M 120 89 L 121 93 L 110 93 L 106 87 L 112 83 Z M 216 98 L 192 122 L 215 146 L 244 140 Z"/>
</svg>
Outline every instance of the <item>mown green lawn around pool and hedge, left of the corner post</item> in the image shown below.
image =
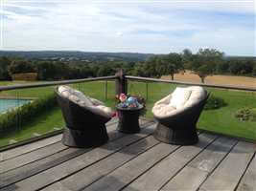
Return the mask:
<svg viewBox="0 0 256 191">
<path fill-rule="evenodd" d="M 3 84 L 3 83 L 2 83 Z M 6 83 L 8 84 L 8 83 Z M 114 83 L 107 83 L 107 99 L 105 100 L 105 82 L 87 82 L 81 84 L 71 85 L 74 88 L 80 90 L 87 96 L 92 96 L 100 100 L 105 101 L 105 104 L 109 107 L 114 107 Z M 53 94 L 55 87 L 44 87 L 44 88 L 31 88 L 24 90 L 6 91 L 0 93 L 0 96 L 6 97 L 32 97 L 38 98 Z M 0 147 L 8 145 L 10 140 L 24 140 L 28 138 L 34 138 L 35 134 L 47 134 L 55 131 L 56 128 L 61 129 L 64 126 L 63 117 L 58 107 L 49 108 L 49 111 L 41 114 L 38 117 L 33 118 L 30 122 L 24 125 L 22 128 L 19 127 L 18 122 L 16 123 L 15 131 L 8 135 L 0 135 Z"/>
</svg>

